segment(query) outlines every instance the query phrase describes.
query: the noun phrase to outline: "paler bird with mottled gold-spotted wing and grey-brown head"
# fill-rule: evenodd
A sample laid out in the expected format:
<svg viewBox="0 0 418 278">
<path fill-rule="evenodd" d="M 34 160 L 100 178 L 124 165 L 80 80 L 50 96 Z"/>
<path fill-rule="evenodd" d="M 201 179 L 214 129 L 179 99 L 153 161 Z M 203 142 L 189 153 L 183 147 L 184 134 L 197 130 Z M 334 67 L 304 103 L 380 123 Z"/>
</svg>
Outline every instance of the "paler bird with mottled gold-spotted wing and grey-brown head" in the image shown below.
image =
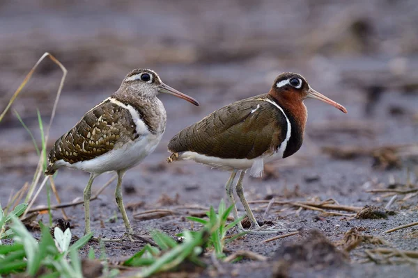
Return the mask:
<svg viewBox="0 0 418 278">
<path fill-rule="evenodd" d="M 160 93 L 199 106 L 196 99 L 164 84 L 153 70 L 135 69 L 127 74 L 113 95 L 91 108 L 50 150 L 46 176 L 61 167 L 90 173 L 84 189 L 85 234 L 91 232 L 93 180 L 113 171 L 118 175 L 115 197 L 125 223 L 125 234 L 133 234 L 123 205 L 121 184 L 125 172 L 155 150 L 166 129 L 167 114 L 157 98 Z"/>
</svg>

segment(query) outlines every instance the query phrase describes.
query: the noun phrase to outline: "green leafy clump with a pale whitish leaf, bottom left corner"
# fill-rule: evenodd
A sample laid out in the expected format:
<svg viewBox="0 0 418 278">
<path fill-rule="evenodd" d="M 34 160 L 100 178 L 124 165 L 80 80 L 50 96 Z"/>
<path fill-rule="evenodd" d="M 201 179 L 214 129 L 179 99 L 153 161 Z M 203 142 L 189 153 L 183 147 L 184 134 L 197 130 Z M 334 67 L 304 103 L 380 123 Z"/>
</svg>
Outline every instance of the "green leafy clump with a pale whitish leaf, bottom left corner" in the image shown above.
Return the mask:
<svg viewBox="0 0 418 278">
<path fill-rule="evenodd" d="M 78 251 L 93 234 L 87 234 L 70 245 L 70 229 L 61 231 L 55 227 L 54 240 L 49 228 L 40 224 L 38 242 L 15 215 L 11 215 L 10 220 L 13 244 L 0 245 L 0 275 L 26 272 L 29 277 L 83 277 Z"/>
</svg>

